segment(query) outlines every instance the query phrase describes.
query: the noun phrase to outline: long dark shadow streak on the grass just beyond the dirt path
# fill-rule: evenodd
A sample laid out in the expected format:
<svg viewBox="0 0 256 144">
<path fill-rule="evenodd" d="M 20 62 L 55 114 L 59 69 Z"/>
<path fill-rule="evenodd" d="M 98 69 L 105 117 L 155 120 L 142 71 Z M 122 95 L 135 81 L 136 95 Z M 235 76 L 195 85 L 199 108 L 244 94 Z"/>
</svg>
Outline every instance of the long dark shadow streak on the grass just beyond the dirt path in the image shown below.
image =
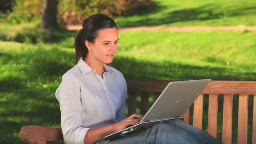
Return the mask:
<svg viewBox="0 0 256 144">
<path fill-rule="evenodd" d="M 157 6 L 158 10 L 166 8 L 167 7 L 162 5 Z M 240 5 L 230 5 L 224 8 L 221 5 L 207 4 L 196 8 L 184 8 L 169 13 L 163 13 L 163 15 L 154 18 L 149 18 L 145 15 L 141 19 L 135 21 L 131 21 L 131 19 L 122 19 L 118 25 L 119 27 L 157 26 L 182 21 L 223 19 L 233 16 L 248 15 L 248 10 L 250 10 L 250 14 L 256 14 L 255 6 L 242 7 Z"/>
</svg>

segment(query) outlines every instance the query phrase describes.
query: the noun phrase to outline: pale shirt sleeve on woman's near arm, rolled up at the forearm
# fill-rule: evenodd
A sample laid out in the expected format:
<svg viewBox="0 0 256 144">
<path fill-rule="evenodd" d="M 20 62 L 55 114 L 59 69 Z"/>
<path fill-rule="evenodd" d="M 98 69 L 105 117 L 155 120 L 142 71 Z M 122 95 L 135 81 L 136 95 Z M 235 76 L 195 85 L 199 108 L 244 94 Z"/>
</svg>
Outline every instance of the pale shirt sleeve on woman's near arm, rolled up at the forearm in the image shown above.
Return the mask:
<svg viewBox="0 0 256 144">
<path fill-rule="evenodd" d="M 65 144 L 83 144 L 90 128 L 82 127 L 80 85 L 71 74 L 64 74 L 56 98 L 61 110 L 61 129 Z"/>
</svg>

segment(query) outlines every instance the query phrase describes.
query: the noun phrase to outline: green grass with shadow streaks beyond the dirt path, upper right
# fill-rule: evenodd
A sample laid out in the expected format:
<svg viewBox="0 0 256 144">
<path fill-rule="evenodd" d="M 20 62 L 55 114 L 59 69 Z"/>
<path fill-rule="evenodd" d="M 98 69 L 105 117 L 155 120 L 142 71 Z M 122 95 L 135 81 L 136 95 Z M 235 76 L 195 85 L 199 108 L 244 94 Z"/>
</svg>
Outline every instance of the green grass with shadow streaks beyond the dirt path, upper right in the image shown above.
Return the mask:
<svg viewBox="0 0 256 144">
<path fill-rule="evenodd" d="M 255 0 L 154 0 L 156 8 L 117 17 L 119 27 L 255 25 Z"/>
</svg>

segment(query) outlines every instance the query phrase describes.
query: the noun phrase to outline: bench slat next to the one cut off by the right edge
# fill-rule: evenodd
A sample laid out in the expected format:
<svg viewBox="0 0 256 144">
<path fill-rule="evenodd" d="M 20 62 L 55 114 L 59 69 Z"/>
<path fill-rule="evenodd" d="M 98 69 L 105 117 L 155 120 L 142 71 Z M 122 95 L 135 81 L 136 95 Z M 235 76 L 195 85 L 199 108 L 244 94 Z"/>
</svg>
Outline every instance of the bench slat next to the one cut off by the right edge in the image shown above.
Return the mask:
<svg viewBox="0 0 256 144">
<path fill-rule="evenodd" d="M 240 95 L 238 101 L 237 144 L 247 144 L 248 95 Z"/>
</svg>

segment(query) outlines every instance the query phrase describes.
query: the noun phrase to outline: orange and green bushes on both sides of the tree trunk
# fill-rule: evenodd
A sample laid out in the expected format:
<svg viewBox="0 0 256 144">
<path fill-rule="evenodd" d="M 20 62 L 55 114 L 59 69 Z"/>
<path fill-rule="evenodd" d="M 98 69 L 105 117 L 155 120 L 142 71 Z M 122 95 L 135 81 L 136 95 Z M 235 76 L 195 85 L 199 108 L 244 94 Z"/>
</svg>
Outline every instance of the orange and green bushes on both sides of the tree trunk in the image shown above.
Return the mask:
<svg viewBox="0 0 256 144">
<path fill-rule="evenodd" d="M 14 3 L 14 2 L 13 2 Z M 59 0 L 59 23 L 81 23 L 89 15 L 128 16 L 154 5 L 152 0 Z M 6 22 L 19 24 L 38 19 L 43 13 L 43 0 L 15 0 L 13 13 Z"/>
</svg>

